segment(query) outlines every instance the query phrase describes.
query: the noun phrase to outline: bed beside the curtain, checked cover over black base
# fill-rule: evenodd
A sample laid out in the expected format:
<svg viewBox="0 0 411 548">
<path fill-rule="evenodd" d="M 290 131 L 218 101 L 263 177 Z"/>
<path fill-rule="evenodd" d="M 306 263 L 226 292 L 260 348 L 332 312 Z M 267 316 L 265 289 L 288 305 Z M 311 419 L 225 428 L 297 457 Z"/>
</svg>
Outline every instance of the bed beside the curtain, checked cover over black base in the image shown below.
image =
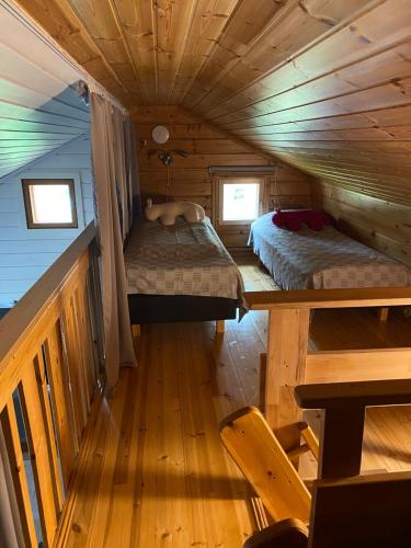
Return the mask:
<svg viewBox="0 0 411 548">
<path fill-rule="evenodd" d="M 240 271 L 210 220 L 175 225 L 142 220 L 125 249 L 132 323 L 236 318 Z"/>
</svg>

